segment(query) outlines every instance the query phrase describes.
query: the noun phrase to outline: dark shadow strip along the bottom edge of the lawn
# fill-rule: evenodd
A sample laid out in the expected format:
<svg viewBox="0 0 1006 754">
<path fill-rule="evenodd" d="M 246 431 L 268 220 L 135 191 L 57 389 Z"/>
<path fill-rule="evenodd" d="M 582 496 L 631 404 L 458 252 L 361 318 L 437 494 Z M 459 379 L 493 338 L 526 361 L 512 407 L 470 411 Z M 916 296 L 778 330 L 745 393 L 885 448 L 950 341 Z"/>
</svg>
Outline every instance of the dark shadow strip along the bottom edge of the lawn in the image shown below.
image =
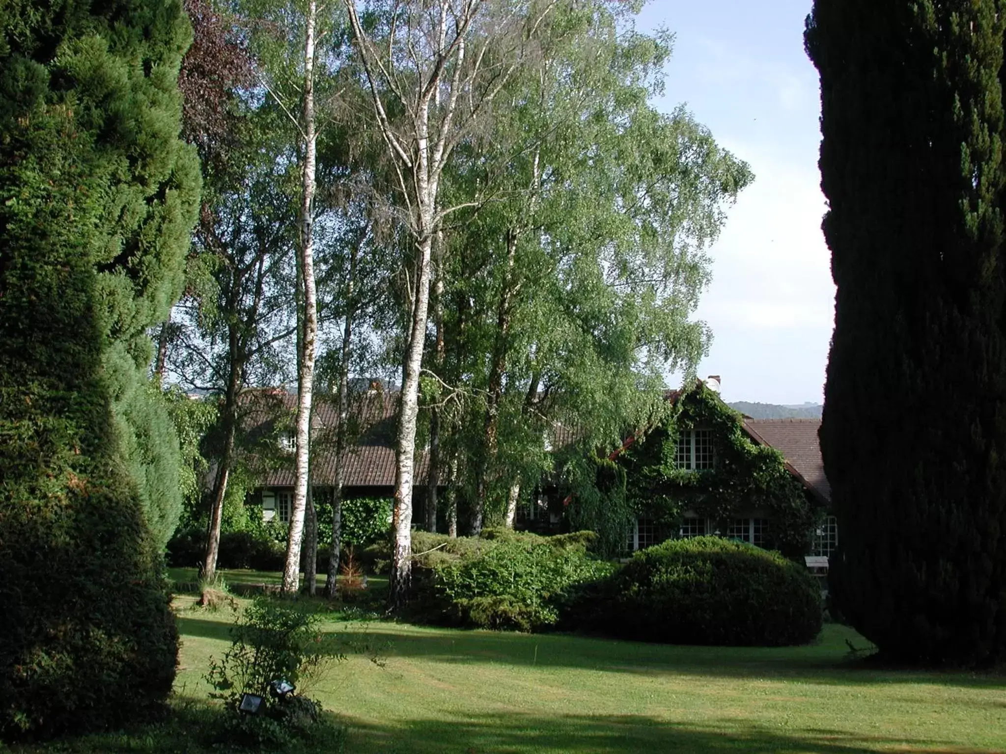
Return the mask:
<svg viewBox="0 0 1006 754">
<path fill-rule="evenodd" d="M 889 751 L 905 744 L 919 752 L 985 752 L 956 747 L 952 742 L 904 742 L 827 730 L 769 730 L 736 721 L 721 726 L 668 723 L 642 715 L 530 716 L 483 715 L 453 720 L 410 721 L 401 727 L 383 727 L 349 721 L 348 750 L 387 754 L 451 754 L 459 752 L 731 752 L 750 754 L 851 754 Z"/>
</svg>

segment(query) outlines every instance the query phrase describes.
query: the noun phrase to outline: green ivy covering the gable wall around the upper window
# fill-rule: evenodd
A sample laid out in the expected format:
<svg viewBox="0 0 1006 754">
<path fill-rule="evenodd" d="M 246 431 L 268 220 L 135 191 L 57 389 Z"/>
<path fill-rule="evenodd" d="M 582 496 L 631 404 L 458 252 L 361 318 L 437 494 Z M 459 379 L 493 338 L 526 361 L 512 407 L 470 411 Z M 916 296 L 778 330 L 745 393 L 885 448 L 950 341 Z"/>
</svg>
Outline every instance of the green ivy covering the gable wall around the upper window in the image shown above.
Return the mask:
<svg viewBox="0 0 1006 754">
<path fill-rule="evenodd" d="M 714 467 L 677 466 L 678 440 L 693 429 L 711 430 Z M 740 414 L 700 382 L 674 402 L 664 422 L 628 446 L 618 464 L 625 469 L 625 506 L 634 513 L 673 526 L 693 511 L 725 531 L 731 519 L 762 510 L 771 520 L 766 546 L 791 558 L 807 552 L 822 513 L 783 454 L 751 441 Z"/>
</svg>

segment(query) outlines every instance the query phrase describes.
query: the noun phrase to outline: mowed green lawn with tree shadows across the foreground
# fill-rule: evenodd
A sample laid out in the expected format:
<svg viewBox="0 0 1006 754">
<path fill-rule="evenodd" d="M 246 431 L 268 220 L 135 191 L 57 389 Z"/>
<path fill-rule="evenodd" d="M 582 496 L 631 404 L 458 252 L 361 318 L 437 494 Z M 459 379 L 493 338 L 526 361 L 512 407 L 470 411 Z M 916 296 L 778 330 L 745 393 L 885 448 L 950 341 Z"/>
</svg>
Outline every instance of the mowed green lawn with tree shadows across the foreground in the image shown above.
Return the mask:
<svg viewBox="0 0 1006 754">
<path fill-rule="evenodd" d="M 201 696 L 225 612 L 179 597 L 177 689 Z M 377 649 L 310 690 L 349 726 L 347 751 L 1006 751 L 1006 678 L 869 669 L 853 631 L 789 648 L 664 646 L 580 636 L 328 621 Z M 381 667 L 382 666 L 382 667 Z"/>
</svg>

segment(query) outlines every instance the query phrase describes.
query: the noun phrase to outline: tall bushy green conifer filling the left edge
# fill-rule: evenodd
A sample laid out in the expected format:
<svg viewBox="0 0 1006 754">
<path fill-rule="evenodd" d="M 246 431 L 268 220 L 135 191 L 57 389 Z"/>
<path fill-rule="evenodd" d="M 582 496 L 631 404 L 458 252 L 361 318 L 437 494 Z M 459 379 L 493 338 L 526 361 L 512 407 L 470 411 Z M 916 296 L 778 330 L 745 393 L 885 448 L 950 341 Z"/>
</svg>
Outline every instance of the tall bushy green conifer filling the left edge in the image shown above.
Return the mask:
<svg viewBox="0 0 1006 754">
<path fill-rule="evenodd" d="M 2 738 L 121 724 L 174 679 L 178 449 L 144 372 L 198 199 L 189 35 L 178 2 L 0 8 Z"/>
</svg>

